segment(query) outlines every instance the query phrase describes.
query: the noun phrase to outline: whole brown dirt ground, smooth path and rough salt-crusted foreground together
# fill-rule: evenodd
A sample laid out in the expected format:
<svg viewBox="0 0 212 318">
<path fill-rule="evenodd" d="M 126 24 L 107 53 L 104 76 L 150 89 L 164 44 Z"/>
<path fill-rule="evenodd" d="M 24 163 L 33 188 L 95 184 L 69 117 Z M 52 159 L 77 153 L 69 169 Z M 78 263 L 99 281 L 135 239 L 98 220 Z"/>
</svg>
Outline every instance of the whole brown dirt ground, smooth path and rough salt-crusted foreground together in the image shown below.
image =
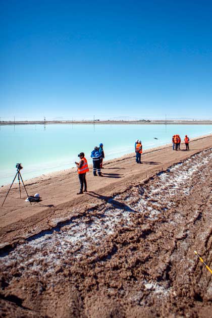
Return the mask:
<svg viewBox="0 0 212 318">
<path fill-rule="evenodd" d="M 27 181 L 40 203 L 15 185 L 0 211 L 0 315 L 211 316 L 211 274 L 193 253 L 211 267 L 211 147 L 105 162 L 79 196 L 76 169 Z"/>
</svg>

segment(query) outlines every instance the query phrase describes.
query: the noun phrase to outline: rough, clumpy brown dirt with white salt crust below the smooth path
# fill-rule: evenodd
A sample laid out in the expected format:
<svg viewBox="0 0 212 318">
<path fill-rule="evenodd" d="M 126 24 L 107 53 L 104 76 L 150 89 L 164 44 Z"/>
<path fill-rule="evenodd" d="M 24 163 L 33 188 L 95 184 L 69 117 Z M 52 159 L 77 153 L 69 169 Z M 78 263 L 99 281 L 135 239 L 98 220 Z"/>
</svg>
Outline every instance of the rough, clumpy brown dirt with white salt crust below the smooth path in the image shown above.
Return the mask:
<svg viewBox="0 0 212 318">
<path fill-rule="evenodd" d="M 49 316 L 60 306 L 67 317 L 107 316 L 102 308 L 198 316 L 212 301 L 211 278 L 193 255 L 210 263 L 211 162 L 212 149 L 201 151 L 2 253 L 3 296 Z M 71 307 L 67 295 L 78 295 Z"/>
</svg>

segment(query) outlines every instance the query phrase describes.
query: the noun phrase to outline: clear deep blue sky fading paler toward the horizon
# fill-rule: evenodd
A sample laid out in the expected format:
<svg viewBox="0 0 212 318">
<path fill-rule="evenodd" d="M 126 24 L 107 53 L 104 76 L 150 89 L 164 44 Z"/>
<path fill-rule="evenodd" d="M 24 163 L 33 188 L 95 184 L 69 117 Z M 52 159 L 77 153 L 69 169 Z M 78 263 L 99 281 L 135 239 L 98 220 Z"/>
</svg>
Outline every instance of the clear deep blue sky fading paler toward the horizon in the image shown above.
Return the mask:
<svg viewBox="0 0 212 318">
<path fill-rule="evenodd" d="M 0 116 L 212 119 L 211 1 L 2 0 Z"/>
</svg>

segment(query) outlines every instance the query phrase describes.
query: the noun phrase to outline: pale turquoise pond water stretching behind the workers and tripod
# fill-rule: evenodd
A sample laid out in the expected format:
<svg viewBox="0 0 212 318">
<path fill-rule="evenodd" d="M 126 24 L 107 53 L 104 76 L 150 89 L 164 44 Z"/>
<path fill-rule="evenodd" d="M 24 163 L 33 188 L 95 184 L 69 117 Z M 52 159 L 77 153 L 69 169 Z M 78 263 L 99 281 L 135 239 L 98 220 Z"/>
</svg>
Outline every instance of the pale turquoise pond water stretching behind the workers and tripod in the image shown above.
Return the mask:
<svg viewBox="0 0 212 318">
<path fill-rule="evenodd" d="M 75 167 L 77 154 L 90 152 L 100 142 L 105 160 L 134 151 L 136 139 L 143 149 L 170 143 L 173 134 L 190 138 L 212 133 L 212 125 L 17 125 L 1 126 L 0 185 L 9 184 L 22 163 L 24 180 Z M 154 139 L 158 138 L 158 140 Z"/>
</svg>

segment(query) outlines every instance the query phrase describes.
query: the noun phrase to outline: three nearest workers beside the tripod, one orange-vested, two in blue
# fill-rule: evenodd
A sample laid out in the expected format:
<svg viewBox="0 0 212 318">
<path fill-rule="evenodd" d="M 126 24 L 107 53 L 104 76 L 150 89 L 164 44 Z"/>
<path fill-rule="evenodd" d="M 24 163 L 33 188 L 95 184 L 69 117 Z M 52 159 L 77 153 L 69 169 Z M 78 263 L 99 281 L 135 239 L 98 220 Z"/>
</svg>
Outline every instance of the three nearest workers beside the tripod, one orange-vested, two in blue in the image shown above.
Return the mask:
<svg viewBox="0 0 212 318">
<path fill-rule="evenodd" d="M 101 169 L 103 169 L 102 163 L 104 158 L 103 144 L 100 143 L 99 147 L 95 146 L 94 149 L 91 151 L 90 156 L 93 160 L 93 175 L 97 176 L 98 174 L 99 177 L 103 177 L 101 174 Z M 80 158 L 80 161 L 79 163 L 75 162 L 75 164 L 78 168 L 77 170 L 80 181 L 80 191 L 77 194 L 83 194 L 83 187 L 84 192 L 87 192 L 86 172 L 89 171 L 89 168 L 84 152 L 80 152 L 78 154 L 78 157 Z"/>
</svg>

